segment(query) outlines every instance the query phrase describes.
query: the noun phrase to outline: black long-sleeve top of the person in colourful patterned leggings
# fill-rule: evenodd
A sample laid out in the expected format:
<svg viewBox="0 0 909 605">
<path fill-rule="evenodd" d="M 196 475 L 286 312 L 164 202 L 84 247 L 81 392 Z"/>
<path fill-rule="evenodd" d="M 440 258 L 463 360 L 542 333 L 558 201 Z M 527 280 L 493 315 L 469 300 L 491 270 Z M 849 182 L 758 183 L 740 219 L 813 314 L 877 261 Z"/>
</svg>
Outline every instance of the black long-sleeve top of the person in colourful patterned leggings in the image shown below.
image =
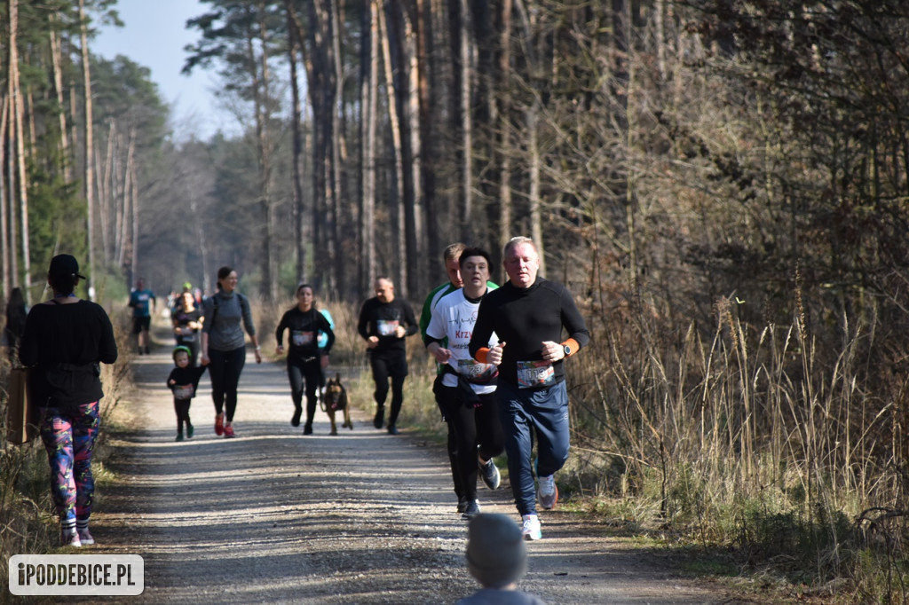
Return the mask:
<svg viewBox="0 0 909 605">
<path fill-rule="evenodd" d="M 114 328 L 95 302 L 45 302 L 28 312 L 19 361 L 32 367 L 29 386 L 39 406 L 69 407 L 104 397 L 97 363 L 113 363 Z"/>
</svg>

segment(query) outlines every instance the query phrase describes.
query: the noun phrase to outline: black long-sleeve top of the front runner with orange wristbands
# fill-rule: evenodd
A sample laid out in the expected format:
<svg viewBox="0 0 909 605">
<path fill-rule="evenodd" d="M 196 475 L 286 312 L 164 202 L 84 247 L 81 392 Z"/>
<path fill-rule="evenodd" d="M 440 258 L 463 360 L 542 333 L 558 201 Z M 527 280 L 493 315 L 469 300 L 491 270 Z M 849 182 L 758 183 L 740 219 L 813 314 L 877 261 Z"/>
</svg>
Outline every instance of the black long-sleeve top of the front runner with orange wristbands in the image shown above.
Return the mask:
<svg viewBox="0 0 909 605">
<path fill-rule="evenodd" d="M 590 342 L 584 318 L 564 285 L 542 277 L 529 288 L 515 288 L 508 282 L 480 302 L 468 350 L 475 359 L 481 348 L 489 346 L 489 336 L 495 332 L 499 342 L 505 343 L 499 381 L 517 385 L 518 362 L 542 361 L 543 342 L 564 342 L 563 328 L 578 347 Z M 564 381 L 562 361 L 552 365 L 554 382 Z"/>
</svg>

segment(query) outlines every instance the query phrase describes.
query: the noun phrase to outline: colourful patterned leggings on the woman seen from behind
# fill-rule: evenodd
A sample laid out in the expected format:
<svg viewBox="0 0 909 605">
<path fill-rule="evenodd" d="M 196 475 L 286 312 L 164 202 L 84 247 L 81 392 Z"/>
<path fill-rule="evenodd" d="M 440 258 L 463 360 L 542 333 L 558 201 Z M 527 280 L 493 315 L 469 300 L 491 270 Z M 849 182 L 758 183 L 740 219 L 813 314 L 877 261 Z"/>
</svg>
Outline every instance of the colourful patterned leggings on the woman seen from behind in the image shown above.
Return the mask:
<svg viewBox="0 0 909 605">
<path fill-rule="evenodd" d="M 91 402 L 73 412 L 45 408 L 41 416 L 41 441 L 51 467 L 51 496 L 61 523 L 85 521 L 92 514 L 92 450 L 101 424 L 98 410 L 98 402 Z"/>
</svg>

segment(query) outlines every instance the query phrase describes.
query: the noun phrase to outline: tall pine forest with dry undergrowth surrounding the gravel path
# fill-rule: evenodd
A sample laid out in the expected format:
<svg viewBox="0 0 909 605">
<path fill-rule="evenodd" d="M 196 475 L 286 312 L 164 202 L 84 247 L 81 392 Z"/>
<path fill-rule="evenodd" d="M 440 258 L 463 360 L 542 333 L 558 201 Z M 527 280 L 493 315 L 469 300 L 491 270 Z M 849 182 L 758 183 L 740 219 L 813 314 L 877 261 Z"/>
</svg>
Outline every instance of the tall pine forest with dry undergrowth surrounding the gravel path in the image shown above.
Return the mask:
<svg viewBox="0 0 909 605">
<path fill-rule="evenodd" d="M 581 491 L 907 598 L 909 4 L 203 5 L 185 71 L 240 135 L 182 135 L 147 68 L 93 55 L 115 0 L 0 7 L 3 301 L 62 251 L 99 299 L 227 264 L 263 302 L 388 275 L 419 303 L 448 243 L 498 265 L 527 235 L 594 336 Z"/>
</svg>

